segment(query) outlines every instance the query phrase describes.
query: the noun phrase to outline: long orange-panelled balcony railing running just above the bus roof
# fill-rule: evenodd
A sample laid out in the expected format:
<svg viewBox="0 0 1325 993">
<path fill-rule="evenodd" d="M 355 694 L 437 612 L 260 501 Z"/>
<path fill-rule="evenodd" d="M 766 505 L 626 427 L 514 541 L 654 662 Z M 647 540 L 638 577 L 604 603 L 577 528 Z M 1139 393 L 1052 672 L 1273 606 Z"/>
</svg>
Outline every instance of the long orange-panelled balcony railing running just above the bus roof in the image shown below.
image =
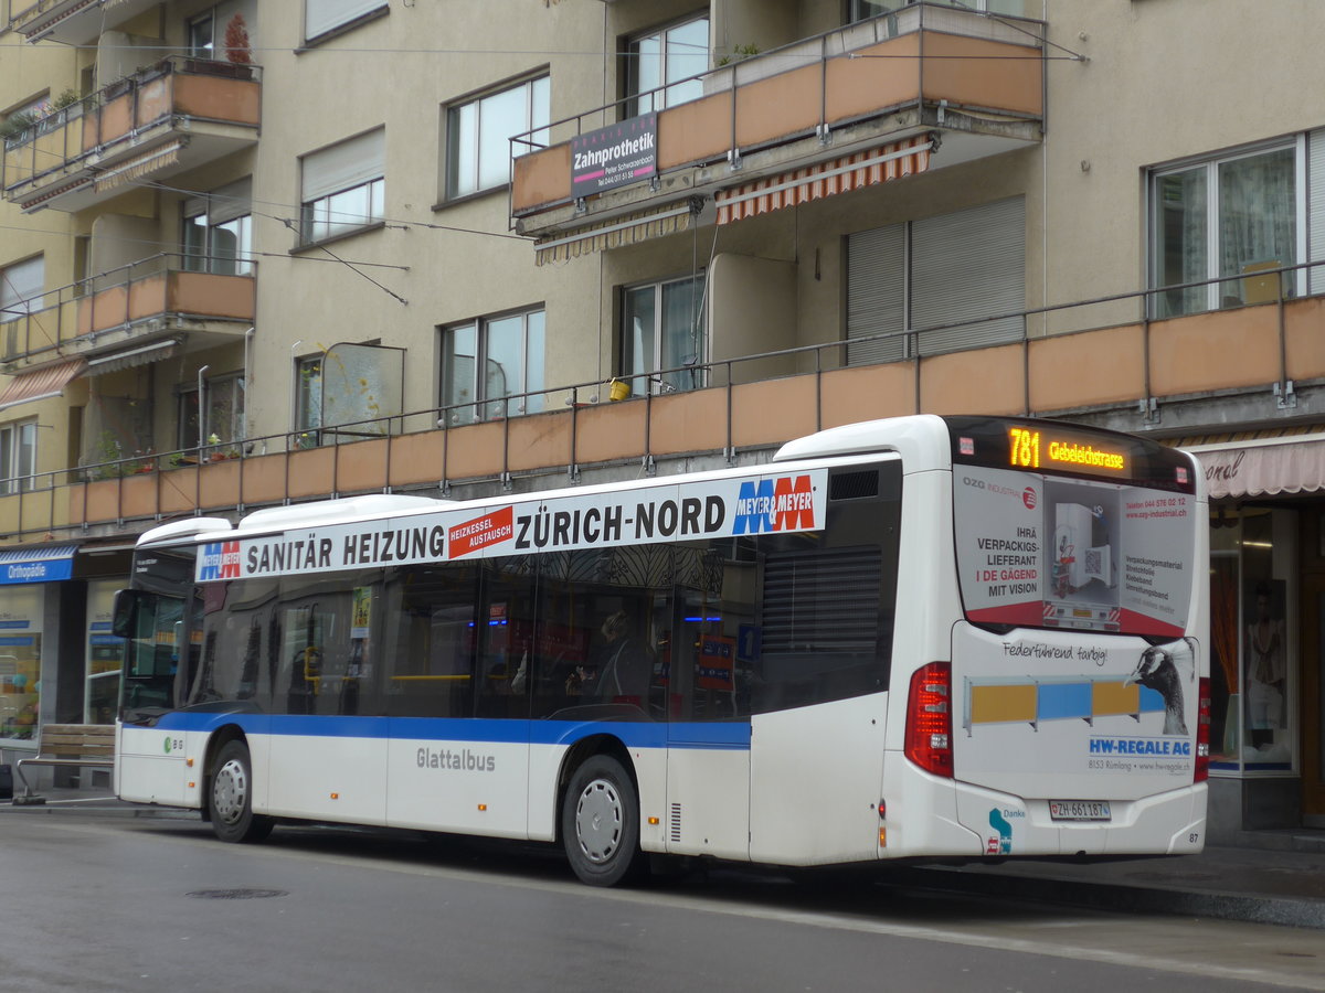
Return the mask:
<svg viewBox="0 0 1325 993">
<path fill-rule="evenodd" d="M 1260 397 L 1261 420 L 1287 417 L 1295 413 L 1295 381 L 1325 379 L 1325 351 L 1317 343 L 1325 297 L 1289 299 L 1287 293 L 1305 282 L 1297 273 L 1309 267 L 1273 270 L 1284 293 L 1234 310 L 1154 320 L 1147 318 L 1154 299 L 1183 287 L 1141 290 L 990 315 L 990 322 L 1020 318 L 1023 327 L 1039 330 L 969 351 L 928 355 L 924 339 L 949 326 L 912 328 L 898 334 L 917 339 L 909 351 L 920 357 L 893 363 L 847 365 L 843 350 L 867 339 L 827 342 L 709 363 L 702 367 L 706 388 L 620 402 L 610 400 L 611 383 L 582 383 L 314 432 L 126 454 L 0 482 L 11 487 L 11 495 L 0 495 L 0 535 L 119 534 L 172 515 L 242 512 L 352 493 L 551 486 L 575 482 L 594 466 L 652 471 L 659 462 L 684 458 L 758 459 L 751 453 L 823 428 L 917 412 L 1122 413 L 1133 426 L 1181 432 L 1181 416 L 1161 421 L 1163 410 L 1181 414 L 1187 405 L 1238 395 L 1243 402 Z M 1325 275 L 1321 263 L 1316 270 L 1313 275 Z M 1051 324 L 1056 334 L 1040 334 Z M 742 372 L 770 367 L 783 372 L 759 379 Z M 651 375 L 672 372 L 681 371 Z M 474 420 L 492 417 L 493 404 L 514 413 L 530 396 L 541 400 L 543 413 Z M 468 421 L 465 426 L 437 429 L 457 412 L 454 420 Z M 1182 416 L 1191 425 L 1222 422 L 1212 408 Z"/>
</svg>

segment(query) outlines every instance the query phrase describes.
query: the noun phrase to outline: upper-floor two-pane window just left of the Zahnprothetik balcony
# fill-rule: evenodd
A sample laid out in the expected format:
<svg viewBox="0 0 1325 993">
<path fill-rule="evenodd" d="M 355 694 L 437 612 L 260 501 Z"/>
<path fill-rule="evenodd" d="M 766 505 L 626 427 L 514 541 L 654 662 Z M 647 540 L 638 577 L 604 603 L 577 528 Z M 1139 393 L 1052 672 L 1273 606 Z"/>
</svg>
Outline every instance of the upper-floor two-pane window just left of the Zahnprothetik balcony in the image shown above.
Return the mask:
<svg viewBox="0 0 1325 993">
<path fill-rule="evenodd" d="M 510 183 L 511 136 L 534 132 L 517 156 L 549 143 L 550 89 L 541 75 L 447 109 L 448 199 Z"/>
</svg>

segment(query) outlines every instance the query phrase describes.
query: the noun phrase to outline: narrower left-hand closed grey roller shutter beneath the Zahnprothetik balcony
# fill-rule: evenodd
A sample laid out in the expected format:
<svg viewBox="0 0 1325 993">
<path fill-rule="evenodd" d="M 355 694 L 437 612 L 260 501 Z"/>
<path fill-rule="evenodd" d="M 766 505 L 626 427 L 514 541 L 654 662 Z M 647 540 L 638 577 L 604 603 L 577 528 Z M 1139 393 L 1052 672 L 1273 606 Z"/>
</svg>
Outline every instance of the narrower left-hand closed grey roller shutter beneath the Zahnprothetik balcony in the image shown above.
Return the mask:
<svg viewBox="0 0 1325 993">
<path fill-rule="evenodd" d="M 856 232 L 847 238 L 847 339 L 906 328 L 906 225 Z M 848 365 L 906 357 L 906 339 L 851 342 Z"/>
</svg>

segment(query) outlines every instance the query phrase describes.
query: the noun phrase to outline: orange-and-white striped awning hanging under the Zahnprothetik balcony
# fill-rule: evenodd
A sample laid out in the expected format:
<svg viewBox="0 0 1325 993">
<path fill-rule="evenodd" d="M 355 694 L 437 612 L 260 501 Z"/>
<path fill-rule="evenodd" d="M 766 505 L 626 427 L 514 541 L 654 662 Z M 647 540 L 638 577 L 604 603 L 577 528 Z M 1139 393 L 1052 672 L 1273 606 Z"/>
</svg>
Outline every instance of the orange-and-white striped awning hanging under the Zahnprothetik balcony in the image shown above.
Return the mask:
<svg viewBox="0 0 1325 993">
<path fill-rule="evenodd" d="M 827 159 L 794 172 L 719 189 L 714 196 L 718 224 L 820 200 L 833 193 L 886 183 L 890 179 L 916 176 L 929 168 L 929 156 L 938 147 L 933 134 L 916 135 L 905 142 L 880 146 L 869 151 Z"/>
</svg>

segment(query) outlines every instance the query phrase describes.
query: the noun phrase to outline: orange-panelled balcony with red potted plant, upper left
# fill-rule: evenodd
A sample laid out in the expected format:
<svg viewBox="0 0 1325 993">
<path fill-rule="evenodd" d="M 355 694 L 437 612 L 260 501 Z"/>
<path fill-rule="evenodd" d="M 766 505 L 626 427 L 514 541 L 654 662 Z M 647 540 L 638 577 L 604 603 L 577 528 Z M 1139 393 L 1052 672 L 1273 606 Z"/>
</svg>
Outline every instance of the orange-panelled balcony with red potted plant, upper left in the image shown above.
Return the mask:
<svg viewBox="0 0 1325 993">
<path fill-rule="evenodd" d="M 4 146 L 4 199 L 82 211 L 257 143 L 257 66 L 172 56 L 42 118 Z"/>
</svg>

